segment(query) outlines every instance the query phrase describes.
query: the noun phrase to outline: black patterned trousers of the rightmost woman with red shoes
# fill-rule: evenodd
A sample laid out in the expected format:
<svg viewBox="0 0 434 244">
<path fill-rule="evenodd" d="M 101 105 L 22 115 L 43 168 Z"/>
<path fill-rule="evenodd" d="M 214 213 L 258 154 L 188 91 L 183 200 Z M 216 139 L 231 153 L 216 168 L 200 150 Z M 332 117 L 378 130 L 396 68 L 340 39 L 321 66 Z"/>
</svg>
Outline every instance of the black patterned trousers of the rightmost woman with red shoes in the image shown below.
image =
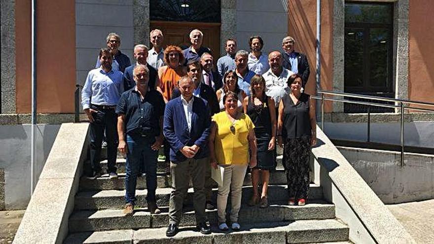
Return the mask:
<svg viewBox="0 0 434 244">
<path fill-rule="evenodd" d="M 306 199 L 308 197 L 310 152 L 310 136 L 285 141 L 283 165 L 287 175 L 289 198 Z"/>
</svg>

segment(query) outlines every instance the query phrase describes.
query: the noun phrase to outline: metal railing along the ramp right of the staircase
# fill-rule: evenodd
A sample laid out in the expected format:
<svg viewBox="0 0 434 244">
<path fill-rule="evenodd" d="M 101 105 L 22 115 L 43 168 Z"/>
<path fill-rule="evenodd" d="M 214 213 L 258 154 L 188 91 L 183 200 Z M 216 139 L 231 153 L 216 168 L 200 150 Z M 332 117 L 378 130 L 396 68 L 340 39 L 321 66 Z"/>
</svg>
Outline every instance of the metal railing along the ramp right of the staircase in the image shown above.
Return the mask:
<svg viewBox="0 0 434 244">
<path fill-rule="evenodd" d="M 384 98 L 384 97 L 376 97 L 376 96 L 369 96 L 369 95 L 359 95 L 359 94 L 345 93 L 345 92 L 333 92 L 333 91 L 323 91 L 323 90 L 318 90 L 317 92 L 318 92 L 318 94 L 321 94 L 321 97 L 312 96 L 311 98 L 321 100 L 321 129 L 323 131 L 324 131 L 325 101 L 366 105 L 367 106 L 367 142 L 370 142 L 370 132 L 371 132 L 370 106 L 399 108 L 399 113 L 400 113 L 400 148 L 401 148 L 400 165 L 401 165 L 401 167 L 404 166 L 404 111 L 405 111 L 405 109 L 425 111 L 425 112 L 434 112 L 434 104 L 433 103 L 402 100 L 402 99 L 393 99 L 393 98 Z M 354 101 L 354 100 L 346 100 L 346 99 L 338 99 L 338 98 L 329 98 L 329 97 L 325 97 L 325 95 L 350 97 L 350 98 L 358 98 L 358 99 L 369 99 L 369 100 L 373 100 L 373 101 L 382 101 L 382 102 L 392 102 L 392 103 L 395 103 L 395 105 L 380 104 L 380 103 L 373 103 L 373 102 L 363 102 L 363 101 Z M 408 105 L 428 106 L 428 107 L 433 107 L 433 109 L 422 108 L 422 107 L 417 107 L 417 106 L 416 107 L 413 107 L 413 106 L 409 107 Z"/>
</svg>

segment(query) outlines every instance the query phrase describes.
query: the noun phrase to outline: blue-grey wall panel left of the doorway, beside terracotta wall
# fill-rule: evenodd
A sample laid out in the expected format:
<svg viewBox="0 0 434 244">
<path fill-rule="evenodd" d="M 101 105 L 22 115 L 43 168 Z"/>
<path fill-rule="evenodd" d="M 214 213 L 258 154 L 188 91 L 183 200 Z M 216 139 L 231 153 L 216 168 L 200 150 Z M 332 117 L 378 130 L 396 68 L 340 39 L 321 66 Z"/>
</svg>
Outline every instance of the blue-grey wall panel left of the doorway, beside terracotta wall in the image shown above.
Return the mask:
<svg viewBox="0 0 434 244">
<path fill-rule="evenodd" d="M 121 36 L 121 52 L 133 59 L 133 0 L 75 1 L 76 82 L 83 85 L 95 69 L 99 49 L 107 47 L 110 32 Z"/>
</svg>

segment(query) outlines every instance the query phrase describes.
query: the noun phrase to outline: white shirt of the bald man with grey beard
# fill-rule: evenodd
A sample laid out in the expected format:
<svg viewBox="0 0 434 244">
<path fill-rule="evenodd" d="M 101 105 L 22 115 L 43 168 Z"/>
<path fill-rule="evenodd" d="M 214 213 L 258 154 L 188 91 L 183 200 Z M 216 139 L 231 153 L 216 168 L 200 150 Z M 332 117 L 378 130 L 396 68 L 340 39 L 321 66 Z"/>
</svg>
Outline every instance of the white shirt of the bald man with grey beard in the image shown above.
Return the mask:
<svg viewBox="0 0 434 244">
<path fill-rule="evenodd" d="M 288 78 L 293 73 L 282 67 L 282 73 L 279 76 L 276 76 L 271 69 L 262 75 L 265 80 L 265 94 L 274 99 L 276 107 L 279 107 L 280 100 L 289 94 Z"/>
</svg>

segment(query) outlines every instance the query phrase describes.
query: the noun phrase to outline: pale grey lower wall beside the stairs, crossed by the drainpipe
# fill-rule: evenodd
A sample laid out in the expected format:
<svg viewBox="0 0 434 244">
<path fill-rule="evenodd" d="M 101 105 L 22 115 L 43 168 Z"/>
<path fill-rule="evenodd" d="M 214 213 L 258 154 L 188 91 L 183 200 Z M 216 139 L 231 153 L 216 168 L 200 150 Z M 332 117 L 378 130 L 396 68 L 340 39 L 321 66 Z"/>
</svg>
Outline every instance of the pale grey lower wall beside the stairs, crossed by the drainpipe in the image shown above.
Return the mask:
<svg viewBox="0 0 434 244">
<path fill-rule="evenodd" d="M 39 124 L 35 129 L 35 179 L 39 177 L 42 171 L 59 128 L 60 125 Z M 31 125 L 0 126 L 0 168 L 4 169 L 5 209 L 25 209 L 29 203 L 31 185 L 30 146 Z"/>
</svg>

